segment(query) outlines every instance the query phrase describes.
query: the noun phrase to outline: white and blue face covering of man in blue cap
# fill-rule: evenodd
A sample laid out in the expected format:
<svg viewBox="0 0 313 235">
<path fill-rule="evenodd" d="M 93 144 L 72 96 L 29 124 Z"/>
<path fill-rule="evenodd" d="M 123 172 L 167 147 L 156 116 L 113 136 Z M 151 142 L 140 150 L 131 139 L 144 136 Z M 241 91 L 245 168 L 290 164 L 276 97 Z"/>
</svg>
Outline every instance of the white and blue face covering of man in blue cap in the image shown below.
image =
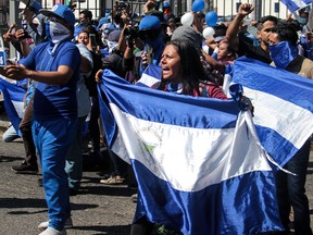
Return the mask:
<svg viewBox="0 0 313 235">
<path fill-rule="evenodd" d="M 70 37 L 70 29 L 59 22 L 47 22 L 46 35 L 54 45 Z"/>
</svg>

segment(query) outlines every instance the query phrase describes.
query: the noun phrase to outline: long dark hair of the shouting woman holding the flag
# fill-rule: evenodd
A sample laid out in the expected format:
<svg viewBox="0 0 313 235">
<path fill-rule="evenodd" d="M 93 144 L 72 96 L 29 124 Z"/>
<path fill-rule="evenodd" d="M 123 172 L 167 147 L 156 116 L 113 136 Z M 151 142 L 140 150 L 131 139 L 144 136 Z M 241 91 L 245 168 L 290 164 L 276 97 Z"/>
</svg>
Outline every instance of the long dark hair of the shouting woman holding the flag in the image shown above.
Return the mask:
<svg viewBox="0 0 313 235">
<path fill-rule="evenodd" d="M 199 81 L 205 79 L 206 75 L 195 46 L 187 40 L 177 39 L 170 41 L 166 47 L 168 45 L 174 46 L 180 57 L 183 94 L 190 96 L 193 96 L 195 91 L 199 94 Z M 164 86 L 166 81 L 163 77 L 161 81 L 161 84 Z"/>
</svg>

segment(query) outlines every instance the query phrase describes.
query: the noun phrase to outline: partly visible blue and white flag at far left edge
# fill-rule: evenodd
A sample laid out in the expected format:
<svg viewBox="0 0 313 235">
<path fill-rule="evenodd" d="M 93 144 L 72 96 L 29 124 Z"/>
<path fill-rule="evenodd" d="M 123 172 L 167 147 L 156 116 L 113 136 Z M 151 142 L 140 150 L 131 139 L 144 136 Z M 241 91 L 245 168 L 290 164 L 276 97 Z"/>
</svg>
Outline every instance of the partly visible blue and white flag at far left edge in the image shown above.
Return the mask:
<svg viewBox="0 0 313 235">
<path fill-rule="evenodd" d="M 24 96 L 26 89 L 0 77 L 0 90 L 4 97 L 4 107 L 9 120 L 21 136 L 18 125 L 24 115 Z"/>
</svg>

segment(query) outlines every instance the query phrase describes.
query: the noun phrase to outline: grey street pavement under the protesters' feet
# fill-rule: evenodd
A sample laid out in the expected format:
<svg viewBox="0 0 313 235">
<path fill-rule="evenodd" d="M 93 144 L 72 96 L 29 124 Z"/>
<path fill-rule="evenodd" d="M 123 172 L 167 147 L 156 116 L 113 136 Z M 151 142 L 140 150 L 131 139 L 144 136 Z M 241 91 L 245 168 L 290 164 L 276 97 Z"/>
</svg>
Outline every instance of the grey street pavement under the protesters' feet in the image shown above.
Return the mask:
<svg viewBox="0 0 313 235">
<path fill-rule="evenodd" d="M 1 132 L 8 126 L 8 118 L 0 115 Z M 40 231 L 37 225 L 47 220 L 47 206 L 37 175 L 18 175 L 11 166 L 24 158 L 22 139 L 5 144 L 0 140 L 0 235 L 34 235 Z M 99 184 L 99 169 L 84 171 L 82 189 L 71 197 L 74 227 L 68 235 L 126 235 L 136 205 L 130 196 L 136 190 L 127 185 L 104 186 Z M 310 200 L 313 228 L 313 149 L 308 170 L 306 194 Z"/>
</svg>

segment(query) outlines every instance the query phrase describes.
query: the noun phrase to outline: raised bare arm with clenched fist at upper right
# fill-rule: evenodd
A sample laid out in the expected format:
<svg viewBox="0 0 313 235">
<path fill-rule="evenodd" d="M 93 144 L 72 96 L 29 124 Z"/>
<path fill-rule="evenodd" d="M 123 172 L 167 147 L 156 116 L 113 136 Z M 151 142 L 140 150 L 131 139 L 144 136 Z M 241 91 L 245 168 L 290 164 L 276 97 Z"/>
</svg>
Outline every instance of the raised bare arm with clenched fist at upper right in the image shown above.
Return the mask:
<svg viewBox="0 0 313 235">
<path fill-rule="evenodd" d="M 240 28 L 240 24 L 243 21 L 243 18 L 250 14 L 252 11 L 254 10 L 254 8 L 252 7 L 252 4 L 250 3 L 243 3 L 239 7 L 238 9 L 238 13 L 235 16 L 235 18 L 231 21 L 231 23 L 229 24 L 229 26 L 227 27 L 227 32 L 226 32 L 226 38 L 228 39 L 228 41 L 236 41 L 237 39 L 237 35 L 239 33 L 239 28 Z M 235 44 L 236 45 L 236 44 Z M 231 44 L 233 48 L 235 46 L 234 44 Z M 238 49 L 238 45 L 236 48 L 234 49 Z"/>
</svg>

